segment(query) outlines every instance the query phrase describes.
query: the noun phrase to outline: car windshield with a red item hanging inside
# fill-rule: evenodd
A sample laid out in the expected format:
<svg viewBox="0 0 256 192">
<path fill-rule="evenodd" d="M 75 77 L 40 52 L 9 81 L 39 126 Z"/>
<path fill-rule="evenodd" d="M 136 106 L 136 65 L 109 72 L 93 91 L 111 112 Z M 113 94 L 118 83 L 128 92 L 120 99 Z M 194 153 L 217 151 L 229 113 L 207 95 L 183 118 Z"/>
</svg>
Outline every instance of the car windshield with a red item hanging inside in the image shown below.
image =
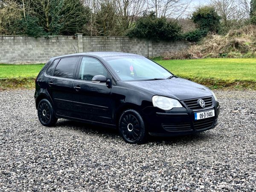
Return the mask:
<svg viewBox="0 0 256 192">
<path fill-rule="evenodd" d="M 113 56 L 104 59 L 122 81 L 149 81 L 172 76 L 172 73 L 143 56 Z"/>
</svg>

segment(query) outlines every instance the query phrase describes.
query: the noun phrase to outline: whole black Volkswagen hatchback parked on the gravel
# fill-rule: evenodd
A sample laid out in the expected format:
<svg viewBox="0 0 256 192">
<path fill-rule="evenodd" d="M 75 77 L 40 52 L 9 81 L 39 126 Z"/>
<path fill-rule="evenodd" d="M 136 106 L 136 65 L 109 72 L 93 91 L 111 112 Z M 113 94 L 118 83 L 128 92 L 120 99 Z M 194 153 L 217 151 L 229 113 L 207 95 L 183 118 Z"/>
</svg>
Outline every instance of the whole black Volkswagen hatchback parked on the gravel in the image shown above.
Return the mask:
<svg viewBox="0 0 256 192">
<path fill-rule="evenodd" d="M 36 78 L 35 104 L 44 126 L 64 118 L 117 127 L 128 143 L 209 130 L 220 109 L 209 88 L 122 52 L 51 58 Z"/>
</svg>

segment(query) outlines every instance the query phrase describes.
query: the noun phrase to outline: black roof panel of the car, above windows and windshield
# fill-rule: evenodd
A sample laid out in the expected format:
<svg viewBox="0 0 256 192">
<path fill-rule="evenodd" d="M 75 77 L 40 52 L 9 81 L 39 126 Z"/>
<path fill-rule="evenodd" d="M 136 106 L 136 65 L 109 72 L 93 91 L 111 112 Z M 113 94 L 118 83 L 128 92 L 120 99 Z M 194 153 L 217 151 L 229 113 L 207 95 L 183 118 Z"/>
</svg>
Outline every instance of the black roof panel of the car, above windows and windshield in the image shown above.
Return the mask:
<svg viewBox="0 0 256 192">
<path fill-rule="evenodd" d="M 51 59 L 68 57 L 68 56 L 113 57 L 113 56 L 142 56 L 142 55 L 127 53 L 127 52 L 108 52 L 108 51 L 103 52 L 102 51 L 102 52 L 81 52 L 81 53 L 75 53 L 75 54 L 70 54 L 70 55 L 61 55 L 61 56 L 53 57 Z"/>
</svg>

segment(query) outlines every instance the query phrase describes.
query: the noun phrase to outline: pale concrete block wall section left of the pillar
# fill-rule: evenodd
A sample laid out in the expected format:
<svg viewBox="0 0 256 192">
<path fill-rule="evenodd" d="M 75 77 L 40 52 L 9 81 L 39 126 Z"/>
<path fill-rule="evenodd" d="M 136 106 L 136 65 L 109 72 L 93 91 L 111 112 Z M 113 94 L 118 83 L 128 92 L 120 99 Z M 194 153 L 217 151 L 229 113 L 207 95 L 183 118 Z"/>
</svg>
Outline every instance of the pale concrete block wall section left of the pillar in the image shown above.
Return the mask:
<svg viewBox="0 0 256 192">
<path fill-rule="evenodd" d="M 49 58 L 75 53 L 76 36 L 52 38 L 0 36 L 0 63 L 44 63 Z"/>
</svg>

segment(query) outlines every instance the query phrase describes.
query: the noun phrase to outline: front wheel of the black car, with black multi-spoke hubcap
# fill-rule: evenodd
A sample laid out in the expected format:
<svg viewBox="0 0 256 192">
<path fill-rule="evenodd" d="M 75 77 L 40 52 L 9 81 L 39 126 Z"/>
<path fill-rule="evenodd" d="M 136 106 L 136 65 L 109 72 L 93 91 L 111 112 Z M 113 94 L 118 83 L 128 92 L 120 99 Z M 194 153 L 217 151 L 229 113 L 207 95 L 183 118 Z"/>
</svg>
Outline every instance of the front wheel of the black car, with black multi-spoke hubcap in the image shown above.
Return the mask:
<svg viewBox="0 0 256 192">
<path fill-rule="evenodd" d="M 133 109 L 128 109 L 122 113 L 118 129 L 126 143 L 142 144 L 147 140 L 148 133 L 144 121 L 140 113 Z"/>
</svg>

